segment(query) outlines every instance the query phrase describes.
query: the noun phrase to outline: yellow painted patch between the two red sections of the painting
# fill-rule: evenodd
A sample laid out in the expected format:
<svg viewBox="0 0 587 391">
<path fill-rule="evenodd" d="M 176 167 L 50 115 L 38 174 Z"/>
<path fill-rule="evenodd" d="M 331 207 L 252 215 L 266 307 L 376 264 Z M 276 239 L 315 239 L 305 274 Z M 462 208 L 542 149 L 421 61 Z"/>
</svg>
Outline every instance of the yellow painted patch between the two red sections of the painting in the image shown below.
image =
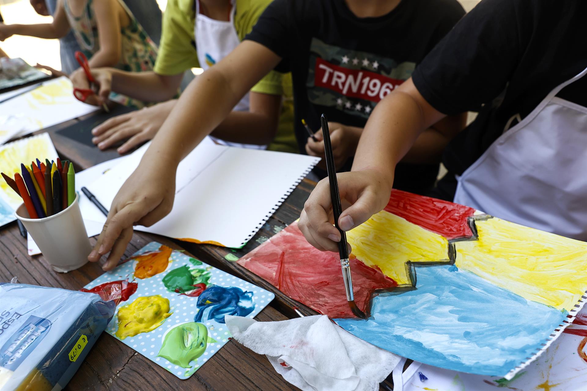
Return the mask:
<svg viewBox="0 0 587 391">
<path fill-rule="evenodd" d="M 399 286 L 411 285 L 406 262 L 448 259 L 448 240 L 382 210 L 346 237 L 353 255 L 367 266 L 379 266 Z"/>
</svg>

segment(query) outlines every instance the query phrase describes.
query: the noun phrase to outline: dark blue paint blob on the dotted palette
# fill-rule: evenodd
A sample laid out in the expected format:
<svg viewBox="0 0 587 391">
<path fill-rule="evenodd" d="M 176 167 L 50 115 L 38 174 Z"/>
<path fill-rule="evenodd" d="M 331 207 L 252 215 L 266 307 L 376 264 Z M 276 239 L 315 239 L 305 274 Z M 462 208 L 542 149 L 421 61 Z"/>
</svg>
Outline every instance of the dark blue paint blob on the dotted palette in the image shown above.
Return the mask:
<svg viewBox="0 0 587 391">
<path fill-rule="evenodd" d="M 194 322 L 214 320 L 224 323 L 224 315 L 245 317 L 255 309 L 252 292 L 216 285 L 209 287 L 198 297 L 197 306 L 199 311 L 195 314 Z"/>
</svg>

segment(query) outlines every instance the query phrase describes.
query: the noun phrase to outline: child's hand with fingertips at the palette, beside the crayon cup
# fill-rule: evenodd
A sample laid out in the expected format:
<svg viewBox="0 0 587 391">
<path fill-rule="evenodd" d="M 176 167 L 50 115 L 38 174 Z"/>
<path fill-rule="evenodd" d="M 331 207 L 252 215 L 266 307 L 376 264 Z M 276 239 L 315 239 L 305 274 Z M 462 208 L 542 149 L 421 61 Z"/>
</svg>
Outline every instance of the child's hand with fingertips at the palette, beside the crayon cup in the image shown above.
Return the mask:
<svg viewBox="0 0 587 391">
<path fill-rule="evenodd" d="M 149 227 L 173 207 L 177 164 L 147 154 L 120 188 L 98 242 L 87 259 L 96 262 L 110 251 L 104 270 L 114 268 L 133 236 L 133 225 Z M 173 169 L 170 169 L 173 167 Z"/>
</svg>

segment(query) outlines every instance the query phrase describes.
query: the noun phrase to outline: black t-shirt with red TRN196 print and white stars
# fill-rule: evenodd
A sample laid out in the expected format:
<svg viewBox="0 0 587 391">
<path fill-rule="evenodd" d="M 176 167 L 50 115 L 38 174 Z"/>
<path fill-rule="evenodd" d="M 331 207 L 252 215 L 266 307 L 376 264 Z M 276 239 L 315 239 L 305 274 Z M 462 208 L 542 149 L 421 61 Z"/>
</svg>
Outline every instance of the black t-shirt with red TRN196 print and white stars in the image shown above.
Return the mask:
<svg viewBox="0 0 587 391">
<path fill-rule="evenodd" d="M 344 0 L 274 0 L 245 39 L 282 57 L 276 70 L 292 72 L 295 132 L 305 153 L 302 118 L 313 131 L 322 113 L 364 127 L 377 102 L 409 79 L 463 15 L 456 0 L 402 0 L 378 18 L 358 18 Z M 426 175 L 433 182 L 438 172 L 430 165 L 410 169 L 406 176 L 416 182 Z"/>
</svg>

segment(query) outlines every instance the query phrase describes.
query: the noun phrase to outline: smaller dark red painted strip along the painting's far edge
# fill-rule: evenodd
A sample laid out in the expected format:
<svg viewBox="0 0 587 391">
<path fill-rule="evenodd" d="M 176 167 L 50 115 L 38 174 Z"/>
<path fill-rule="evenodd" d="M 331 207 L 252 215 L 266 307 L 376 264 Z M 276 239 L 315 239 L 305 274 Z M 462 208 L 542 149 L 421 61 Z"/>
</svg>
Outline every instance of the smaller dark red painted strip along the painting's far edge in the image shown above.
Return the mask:
<svg viewBox="0 0 587 391">
<path fill-rule="evenodd" d="M 475 209 L 458 203 L 394 189 L 385 210 L 448 240 L 473 236 L 467 218 L 473 216 Z"/>
</svg>

